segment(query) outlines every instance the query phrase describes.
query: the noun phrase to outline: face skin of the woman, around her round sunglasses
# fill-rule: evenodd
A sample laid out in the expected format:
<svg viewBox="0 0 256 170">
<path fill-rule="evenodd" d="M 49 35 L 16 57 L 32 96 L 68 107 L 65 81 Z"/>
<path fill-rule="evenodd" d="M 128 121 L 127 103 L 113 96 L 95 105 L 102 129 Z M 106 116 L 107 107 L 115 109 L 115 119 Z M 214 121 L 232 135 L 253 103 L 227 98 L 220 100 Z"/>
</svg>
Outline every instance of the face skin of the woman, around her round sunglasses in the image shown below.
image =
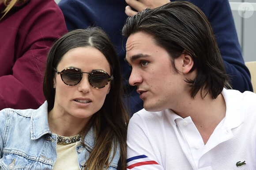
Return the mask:
<svg viewBox="0 0 256 170">
<path fill-rule="evenodd" d="M 93 47 L 77 47 L 64 54 L 56 70 L 62 71 L 67 67 L 75 67 L 81 72 L 103 70 L 111 76 L 109 62 L 105 56 Z M 101 89 L 92 87 L 88 81 L 87 73 L 83 73 L 80 83 L 68 86 L 56 73 L 54 87 L 56 88 L 54 114 L 68 116 L 69 119 L 90 119 L 102 108 L 106 95 L 109 93 L 110 84 Z"/>
</svg>

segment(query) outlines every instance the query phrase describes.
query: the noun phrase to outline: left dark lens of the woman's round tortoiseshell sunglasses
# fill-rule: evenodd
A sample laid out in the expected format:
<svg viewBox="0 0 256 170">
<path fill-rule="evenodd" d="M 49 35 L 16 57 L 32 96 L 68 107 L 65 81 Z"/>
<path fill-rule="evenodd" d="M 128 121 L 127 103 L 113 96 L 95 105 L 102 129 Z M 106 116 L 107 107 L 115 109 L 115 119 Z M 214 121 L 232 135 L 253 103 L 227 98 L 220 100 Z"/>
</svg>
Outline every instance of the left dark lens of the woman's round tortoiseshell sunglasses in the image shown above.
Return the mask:
<svg viewBox="0 0 256 170">
<path fill-rule="evenodd" d="M 82 80 L 82 73 L 77 69 L 65 69 L 61 76 L 64 83 L 71 86 L 78 84 Z"/>
</svg>

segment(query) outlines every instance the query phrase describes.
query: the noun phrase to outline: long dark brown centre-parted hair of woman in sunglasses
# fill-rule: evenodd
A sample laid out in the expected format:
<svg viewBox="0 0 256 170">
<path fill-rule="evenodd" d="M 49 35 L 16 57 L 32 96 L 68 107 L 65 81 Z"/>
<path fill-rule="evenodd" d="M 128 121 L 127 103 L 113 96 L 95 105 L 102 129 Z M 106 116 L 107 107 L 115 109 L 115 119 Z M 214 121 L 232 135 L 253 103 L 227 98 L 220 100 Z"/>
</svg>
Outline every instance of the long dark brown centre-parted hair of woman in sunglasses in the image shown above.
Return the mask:
<svg viewBox="0 0 256 170">
<path fill-rule="evenodd" d="M 43 83 L 48 111 L 53 109 L 55 98 L 53 79 L 56 72 L 53 68 L 57 68 L 65 53 L 76 47 L 94 47 L 101 51 L 109 62 L 111 75 L 114 77 L 110 81 L 111 88 L 102 108 L 91 117 L 82 132 L 83 140 L 90 128 L 93 127 L 96 136 L 95 146 L 84 165 L 85 169 L 102 170 L 104 166 L 108 167 L 111 149 L 114 146 L 114 151 L 116 151 L 119 142 L 120 160 L 118 164 L 121 170 L 125 170 L 128 112 L 122 100 L 121 69 L 113 44 L 102 29 L 97 27 L 77 29 L 65 34 L 53 44 L 48 54 Z M 84 142 L 83 145 L 85 145 Z"/>
</svg>

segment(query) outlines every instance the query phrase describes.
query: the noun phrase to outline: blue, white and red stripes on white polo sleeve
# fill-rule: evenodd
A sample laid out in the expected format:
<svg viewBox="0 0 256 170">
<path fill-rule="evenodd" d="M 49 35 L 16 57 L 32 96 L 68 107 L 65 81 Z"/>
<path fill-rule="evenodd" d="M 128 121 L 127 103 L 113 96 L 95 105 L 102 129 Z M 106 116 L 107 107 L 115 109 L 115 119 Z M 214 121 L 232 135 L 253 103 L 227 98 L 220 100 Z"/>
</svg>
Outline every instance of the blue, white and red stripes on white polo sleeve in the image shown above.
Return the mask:
<svg viewBox="0 0 256 170">
<path fill-rule="evenodd" d="M 142 166 L 142 165 L 158 165 L 157 162 L 154 160 L 150 160 L 147 156 L 145 155 L 140 155 L 140 156 L 134 156 L 132 158 L 129 158 L 126 160 L 127 163 L 127 169 L 131 170 L 132 168 L 136 166 Z M 130 165 L 129 165 L 130 164 Z"/>
</svg>

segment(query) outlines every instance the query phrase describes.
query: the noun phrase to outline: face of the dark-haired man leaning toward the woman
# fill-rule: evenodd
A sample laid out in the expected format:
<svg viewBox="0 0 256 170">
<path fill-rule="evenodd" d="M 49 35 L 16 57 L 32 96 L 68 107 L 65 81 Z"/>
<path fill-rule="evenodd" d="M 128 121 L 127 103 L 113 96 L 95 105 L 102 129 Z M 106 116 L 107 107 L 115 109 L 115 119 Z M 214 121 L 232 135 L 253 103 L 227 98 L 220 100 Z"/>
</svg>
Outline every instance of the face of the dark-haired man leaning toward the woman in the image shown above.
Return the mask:
<svg viewBox="0 0 256 170">
<path fill-rule="evenodd" d="M 174 71 L 168 52 L 154 43 L 153 36 L 143 32 L 132 34 L 126 51 L 125 60 L 132 66 L 129 84 L 137 86 L 144 108 L 161 111 L 179 105 L 185 88 L 184 77 Z"/>
</svg>

